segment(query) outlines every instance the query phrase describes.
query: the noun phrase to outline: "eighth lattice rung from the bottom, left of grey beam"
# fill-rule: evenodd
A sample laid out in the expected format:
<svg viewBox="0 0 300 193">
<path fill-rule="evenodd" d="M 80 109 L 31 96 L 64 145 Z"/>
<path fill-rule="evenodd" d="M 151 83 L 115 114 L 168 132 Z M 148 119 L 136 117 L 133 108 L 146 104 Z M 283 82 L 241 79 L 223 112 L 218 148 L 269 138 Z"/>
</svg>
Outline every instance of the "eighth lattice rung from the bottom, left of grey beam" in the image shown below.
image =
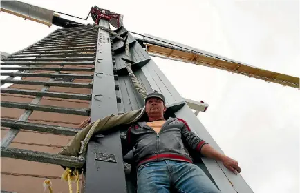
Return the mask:
<svg viewBox="0 0 300 193">
<path fill-rule="evenodd" d="M 38 62 L 29 62 L 29 61 L 24 61 L 24 62 L 3 62 L 0 63 L 1 65 L 95 65 L 93 61 L 56 61 L 56 62 L 43 62 L 43 61 L 38 61 Z"/>
</svg>

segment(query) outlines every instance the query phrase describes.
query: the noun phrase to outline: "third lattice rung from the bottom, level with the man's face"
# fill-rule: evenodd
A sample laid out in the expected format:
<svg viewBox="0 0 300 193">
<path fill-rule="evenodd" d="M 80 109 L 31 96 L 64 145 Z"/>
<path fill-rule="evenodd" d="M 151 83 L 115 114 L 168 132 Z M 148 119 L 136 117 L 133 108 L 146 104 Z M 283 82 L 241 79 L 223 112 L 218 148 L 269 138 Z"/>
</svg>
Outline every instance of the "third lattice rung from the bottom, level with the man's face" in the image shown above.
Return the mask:
<svg viewBox="0 0 300 193">
<path fill-rule="evenodd" d="M 63 114 L 77 114 L 89 116 L 90 109 L 82 109 L 82 108 L 59 108 L 56 106 L 48 106 L 48 105 L 35 105 L 29 103 L 16 103 L 16 102 L 8 102 L 1 101 L 1 107 L 3 108 L 17 108 L 17 109 L 26 109 L 26 110 L 37 110 L 44 112 L 55 112 L 55 113 L 63 113 Z"/>
</svg>

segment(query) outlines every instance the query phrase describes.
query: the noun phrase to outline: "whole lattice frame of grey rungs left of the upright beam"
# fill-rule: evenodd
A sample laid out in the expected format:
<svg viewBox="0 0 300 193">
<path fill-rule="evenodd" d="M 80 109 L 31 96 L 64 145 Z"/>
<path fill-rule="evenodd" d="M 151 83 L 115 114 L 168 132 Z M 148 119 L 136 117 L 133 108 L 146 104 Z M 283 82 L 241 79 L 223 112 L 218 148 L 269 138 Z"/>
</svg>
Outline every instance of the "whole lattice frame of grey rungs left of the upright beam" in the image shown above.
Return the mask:
<svg viewBox="0 0 300 193">
<path fill-rule="evenodd" d="M 82 65 L 95 64 L 95 48 L 97 47 L 97 30 L 90 27 L 55 30 L 41 41 L 30 45 L 28 48 L 10 54 L 2 59 L 1 70 L 18 70 L 17 72 L 2 72 L 7 79 L 1 80 L 1 85 L 13 83 L 20 85 L 44 85 L 40 91 L 14 88 L 2 88 L 1 94 L 18 94 L 35 96 L 31 103 L 17 103 L 1 101 L 1 107 L 19 108 L 26 110 L 18 120 L 1 119 L 1 126 L 8 127 L 8 134 L 1 140 L 1 156 L 28 161 L 39 161 L 68 167 L 82 167 L 83 161 L 77 157 L 48 154 L 31 150 L 9 148 L 19 129 L 47 132 L 73 136 L 78 132 L 76 128 L 66 128 L 59 125 L 45 125 L 28 122 L 33 111 L 55 112 L 62 114 L 80 114 L 89 116 L 90 109 L 62 108 L 57 106 L 40 105 L 42 97 L 60 99 L 75 99 L 91 101 L 91 94 L 71 94 L 64 92 L 48 92 L 50 86 L 71 88 L 92 88 L 93 83 L 73 83 L 55 81 L 56 79 L 93 79 L 92 75 L 80 72 L 93 72 L 93 67 L 82 68 Z M 18 65 L 9 66 L 9 65 Z M 64 67 L 72 66 L 72 67 Z M 39 72 L 37 72 L 39 70 Z M 42 72 L 41 72 L 42 71 Z M 50 71 L 54 73 L 43 73 Z M 64 72 L 64 73 L 61 73 Z M 68 74 L 66 74 L 68 72 Z M 74 73 L 78 72 L 78 73 Z M 48 77 L 48 81 L 15 80 L 15 77 Z"/>
</svg>

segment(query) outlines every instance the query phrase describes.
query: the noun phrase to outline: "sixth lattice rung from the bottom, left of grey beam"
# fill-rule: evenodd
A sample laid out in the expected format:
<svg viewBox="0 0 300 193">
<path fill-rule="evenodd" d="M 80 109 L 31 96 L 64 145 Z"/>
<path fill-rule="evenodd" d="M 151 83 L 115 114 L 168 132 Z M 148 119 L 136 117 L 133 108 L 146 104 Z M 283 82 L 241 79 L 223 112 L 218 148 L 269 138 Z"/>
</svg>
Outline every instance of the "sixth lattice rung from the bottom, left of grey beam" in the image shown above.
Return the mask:
<svg viewBox="0 0 300 193">
<path fill-rule="evenodd" d="M 46 77 L 46 78 L 72 78 L 72 79 L 93 79 L 93 74 L 37 74 L 37 73 L 17 73 L 1 72 L 2 76 L 10 77 Z"/>
</svg>

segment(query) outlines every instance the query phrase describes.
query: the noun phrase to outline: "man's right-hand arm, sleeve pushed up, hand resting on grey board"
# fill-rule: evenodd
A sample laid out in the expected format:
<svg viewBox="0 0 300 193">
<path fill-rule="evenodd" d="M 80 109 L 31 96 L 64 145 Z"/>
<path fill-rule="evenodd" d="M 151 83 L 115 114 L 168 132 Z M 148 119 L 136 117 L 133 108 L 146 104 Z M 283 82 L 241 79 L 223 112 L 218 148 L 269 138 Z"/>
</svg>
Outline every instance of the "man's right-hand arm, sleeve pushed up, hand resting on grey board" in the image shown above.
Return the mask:
<svg viewBox="0 0 300 193">
<path fill-rule="evenodd" d="M 185 141 L 187 141 L 187 145 L 189 145 L 190 148 L 198 150 L 200 154 L 207 158 L 221 161 L 223 165 L 228 170 L 234 172 L 234 174 L 238 174 L 239 172 L 241 172 L 241 168 L 238 166 L 237 161 L 229 158 L 228 156 L 225 156 L 224 154 L 221 154 L 220 152 L 212 148 L 212 146 L 206 143 L 203 139 L 200 139 L 200 137 L 196 136 L 194 132 L 191 132 L 191 130 L 189 129 L 189 125 L 187 125 L 187 123 L 183 119 L 178 120 L 184 123 L 183 127 L 181 128 L 181 132 L 183 138 L 185 139 Z"/>
</svg>

